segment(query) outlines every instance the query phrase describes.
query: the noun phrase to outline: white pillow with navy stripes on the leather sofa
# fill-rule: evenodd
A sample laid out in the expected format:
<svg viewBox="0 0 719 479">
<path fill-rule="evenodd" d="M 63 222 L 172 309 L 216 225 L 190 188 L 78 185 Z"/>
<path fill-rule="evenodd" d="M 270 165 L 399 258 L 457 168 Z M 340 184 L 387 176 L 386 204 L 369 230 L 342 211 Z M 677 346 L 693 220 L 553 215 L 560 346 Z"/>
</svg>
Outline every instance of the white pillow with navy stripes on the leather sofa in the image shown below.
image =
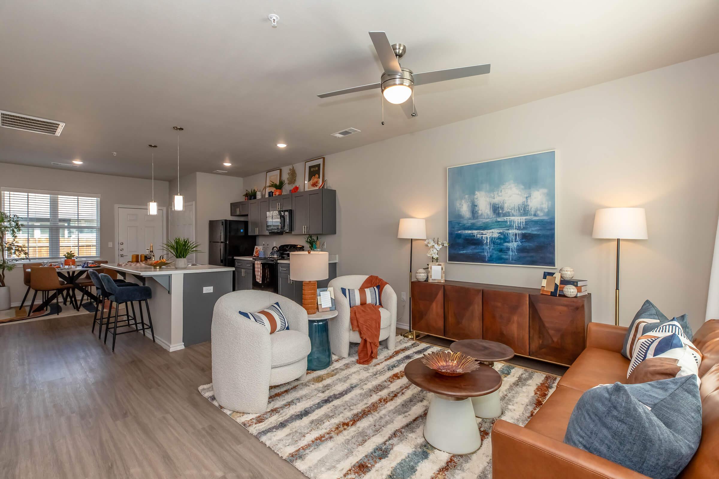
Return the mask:
<svg viewBox="0 0 719 479">
<path fill-rule="evenodd" d="M 666 322 L 637 339 L 627 378 L 641 363 L 654 358 L 672 360 L 672 363 L 676 361 L 676 366 L 672 366 L 675 377 L 695 374 L 699 381 L 702 353 L 687 338 L 678 322 Z"/>
</svg>

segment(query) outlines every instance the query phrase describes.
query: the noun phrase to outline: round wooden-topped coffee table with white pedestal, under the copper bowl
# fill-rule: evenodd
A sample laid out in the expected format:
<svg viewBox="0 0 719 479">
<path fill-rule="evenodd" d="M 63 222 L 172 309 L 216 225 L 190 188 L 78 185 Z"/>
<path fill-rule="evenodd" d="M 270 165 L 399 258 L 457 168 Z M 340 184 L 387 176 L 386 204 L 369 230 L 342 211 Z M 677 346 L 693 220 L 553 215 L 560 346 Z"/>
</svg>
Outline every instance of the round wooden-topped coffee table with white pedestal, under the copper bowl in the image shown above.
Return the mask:
<svg viewBox="0 0 719 479">
<path fill-rule="evenodd" d="M 424 439 L 450 454 L 470 454 L 482 445 L 472 399 L 497 391 L 502 376 L 490 366 L 462 376 L 444 376 L 424 366 L 420 358 L 405 366 L 405 377 L 432 397 L 424 423 Z"/>
</svg>

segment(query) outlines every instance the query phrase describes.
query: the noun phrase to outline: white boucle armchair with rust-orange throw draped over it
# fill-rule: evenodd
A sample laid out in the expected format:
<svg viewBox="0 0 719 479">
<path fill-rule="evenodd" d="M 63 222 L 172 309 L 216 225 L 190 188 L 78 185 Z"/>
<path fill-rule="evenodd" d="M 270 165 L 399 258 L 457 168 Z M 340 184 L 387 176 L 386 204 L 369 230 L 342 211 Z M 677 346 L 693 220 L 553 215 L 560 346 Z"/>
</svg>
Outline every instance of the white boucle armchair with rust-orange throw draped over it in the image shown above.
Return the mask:
<svg viewBox="0 0 719 479">
<path fill-rule="evenodd" d="M 349 343 L 359 343 L 359 332 L 352 330 L 349 323 L 349 301 L 342 294 L 341 288 L 359 289 L 367 279 L 363 274 L 337 276 L 328 287 L 334 288 L 334 303 L 337 316 L 329 320 L 329 345 L 332 353 L 341 358 L 349 356 Z M 387 340 L 387 349 L 395 348 L 397 328 L 397 294 L 388 284 L 382 290 L 382 307 L 380 307 L 380 341 Z"/>
</svg>

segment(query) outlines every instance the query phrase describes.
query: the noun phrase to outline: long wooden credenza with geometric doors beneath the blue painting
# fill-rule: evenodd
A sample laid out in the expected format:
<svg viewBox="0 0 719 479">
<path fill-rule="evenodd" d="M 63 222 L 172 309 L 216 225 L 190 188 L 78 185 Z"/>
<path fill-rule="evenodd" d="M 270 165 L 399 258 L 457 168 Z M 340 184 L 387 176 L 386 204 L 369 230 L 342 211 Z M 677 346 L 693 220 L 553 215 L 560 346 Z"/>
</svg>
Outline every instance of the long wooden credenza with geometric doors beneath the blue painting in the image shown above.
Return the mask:
<svg viewBox="0 0 719 479">
<path fill-rule="evenodd" d="M 412 282 L 412 329 L 451 340 L 486 339 L 518 355 L 571 365 L 585 348 L 592 295 L 461 281 Z"/>
</svg>

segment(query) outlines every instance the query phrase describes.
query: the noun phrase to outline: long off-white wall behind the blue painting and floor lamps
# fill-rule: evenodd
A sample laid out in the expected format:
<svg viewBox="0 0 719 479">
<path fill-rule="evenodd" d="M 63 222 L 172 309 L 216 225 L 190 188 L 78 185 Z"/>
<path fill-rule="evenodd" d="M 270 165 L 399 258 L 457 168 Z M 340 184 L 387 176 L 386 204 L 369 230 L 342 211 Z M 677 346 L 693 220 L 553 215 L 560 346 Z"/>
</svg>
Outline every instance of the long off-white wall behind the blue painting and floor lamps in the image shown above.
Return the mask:
<svg viewBox="0 0 719 479">
<path fill-rule="evenodd" d="M 340 255 L 339 274 L 377 274 L 407 292 L 409 244 L 397 238 L 398 220 L 426 218 L 427 234 L 446 239 L 447 167 L 557 149 L 558 266 L 589 280 L 592 320 L 614 321 L 615 270 L 615 242 L 591 237 L 594 212 L 638 206 L 649 240 L 622 243 L 620 324 L 649 298 L 667 315 L 687 312 L 697 328 L 719 214 L 718 83 L 716 54 L 330 155 L 338 233 L 321 239 Z M 264 173 L 244 184 L 263 181 Z M 425 254 L 416 241 L 413 270 Z M 539 287 L 541 271 L 447 264 L 446 279 Z"/>
</svg>

